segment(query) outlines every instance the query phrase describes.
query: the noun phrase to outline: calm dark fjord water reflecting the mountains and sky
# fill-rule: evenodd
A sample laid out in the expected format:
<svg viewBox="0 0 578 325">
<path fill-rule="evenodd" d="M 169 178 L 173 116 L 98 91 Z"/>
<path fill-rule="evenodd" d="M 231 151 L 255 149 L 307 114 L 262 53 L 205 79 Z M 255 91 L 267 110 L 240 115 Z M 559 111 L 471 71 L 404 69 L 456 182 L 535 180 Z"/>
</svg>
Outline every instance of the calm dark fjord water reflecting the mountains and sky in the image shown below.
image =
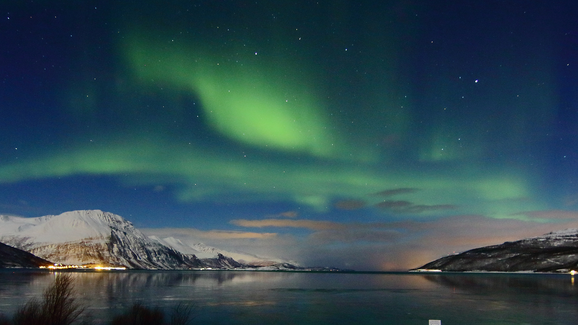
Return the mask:
<svg viewBox="0 0 578 325">
<path fill-rule="evenodd" d="M 0 271 L 0 311 L 40 297 L 58 273 Z M 251 271 L 75 272 L 95 324 L 135 301 L 197 306 L 197 324 L 576 324 L 578 282 L 566 274 Z"/>
</svg>

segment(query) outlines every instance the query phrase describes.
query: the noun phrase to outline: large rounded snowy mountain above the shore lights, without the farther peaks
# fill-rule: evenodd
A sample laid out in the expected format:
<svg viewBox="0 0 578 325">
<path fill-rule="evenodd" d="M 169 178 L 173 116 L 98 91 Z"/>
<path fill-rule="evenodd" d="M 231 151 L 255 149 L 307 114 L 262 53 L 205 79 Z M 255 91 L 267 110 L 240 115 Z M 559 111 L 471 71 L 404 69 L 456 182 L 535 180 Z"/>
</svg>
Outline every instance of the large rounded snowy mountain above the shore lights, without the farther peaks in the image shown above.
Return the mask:
<svg viewBox="0 0 578 325">
<path fill-rule="evenodd" d="M 0 216 L 0 242 L 62 264 L 147 269 L 202 268 L 196 256 L 153 241 L 123 217 L 101 210 L 58 216 Z"/>
</svg>

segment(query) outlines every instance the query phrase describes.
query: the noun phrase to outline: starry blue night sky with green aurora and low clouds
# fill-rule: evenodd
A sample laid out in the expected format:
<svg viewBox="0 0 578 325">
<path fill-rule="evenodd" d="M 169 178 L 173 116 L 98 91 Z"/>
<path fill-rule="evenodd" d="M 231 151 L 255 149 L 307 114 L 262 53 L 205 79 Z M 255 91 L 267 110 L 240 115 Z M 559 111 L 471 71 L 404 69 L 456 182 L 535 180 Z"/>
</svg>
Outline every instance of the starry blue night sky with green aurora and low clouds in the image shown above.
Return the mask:
<svg viewBox="0 0 578 325">
<path fill-rule="evenodd" d="M 360 270 L 578 227 L 574 1 L 0 11 L 2 214 Z"/>
</svg>

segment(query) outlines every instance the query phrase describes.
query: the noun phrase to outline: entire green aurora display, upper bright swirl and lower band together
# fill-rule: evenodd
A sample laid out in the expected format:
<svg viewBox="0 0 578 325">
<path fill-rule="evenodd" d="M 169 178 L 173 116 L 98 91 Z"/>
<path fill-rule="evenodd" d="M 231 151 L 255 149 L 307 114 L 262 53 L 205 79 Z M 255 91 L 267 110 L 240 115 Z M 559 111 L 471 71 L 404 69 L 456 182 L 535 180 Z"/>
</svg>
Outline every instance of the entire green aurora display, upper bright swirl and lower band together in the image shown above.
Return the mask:
<svg viewBox="0 0 578 325">
<path fill-rule="evenodd" d="M 452 169 L 451 173 L 443 169 L 411 171 L 388 163 L 391 154 L 381 148 L 368 149 L 354 137 L 343 138 L 339 125 L 327 118 L 329 103 L 313 86 L 315 78 L 303 72 L 306 69 L 295 68 L 298 64 L 288 58 L 244 50 L 239 60 L 231 60 L 231 53 L 239 54 L 240 49 L 218 52 L 193 40 L 163 43 L 129 35 L 123 38 L 121 49 L 129 75 L 136 82 L 132 87 L 143 92 L 166 87 L 176 93 L 190 93 L 199 98 L 206 124 L 232 141 L 273 154 L 305 154 L 313 160 L 264 161 L 247 158 L 246 154 L 239 158 L 222 150 L 202 149 L 194 142 L 187 144 L 164 130 L 140 137 L 109 134 L 101 136 L 94 149 L 75 145 L 17 164 L 4 164 L 0 167 L 2 182 L 86 174 L 132 175 L 123 182 L 184 186 L 177 193 L 181 202 L 222 201 L 223 195 L 235 193 L 236 199 L 227 200 L 288 200 L 319 212 L 331 209 L 336 200 L 362 200 L 375 205 L 390 198 L 384 200 L 373 193 L 414 188 L 418 189 L 416 193 L 395 197 L 424 207 L 403 213 L 414 217 L 474 213 L 527 219 L 520 212 L 545 208 L 537 200 L 528 200 L 532 191 L 521 173 L 496 168 L 481 173 L 475 171 L 475 165 Z M 154 125 L 154 121 L 151 123 Z M 397 134 L 407 129 L 403 120 L 394 120 L 393 124 L 390 129 Z M 460 151 L 460 142 L 451 139 L 459 134 L 455 130 L 446 127 L 434 131 L 421 146 L 420 160 L 467 157 L 464 150 Z M 451 133 L 456 135 L 448 136 Z M 175 145 L 179 142 L 181 145 Z"/>
</svg>

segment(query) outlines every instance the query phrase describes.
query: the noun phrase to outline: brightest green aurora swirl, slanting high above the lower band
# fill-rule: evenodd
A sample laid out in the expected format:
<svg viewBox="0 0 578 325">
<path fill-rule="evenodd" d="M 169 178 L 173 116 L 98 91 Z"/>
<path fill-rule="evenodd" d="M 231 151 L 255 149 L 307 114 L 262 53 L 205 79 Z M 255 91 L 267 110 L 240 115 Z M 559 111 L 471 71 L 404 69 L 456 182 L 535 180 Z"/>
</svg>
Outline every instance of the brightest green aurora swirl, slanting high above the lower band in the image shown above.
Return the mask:
<svg viewBox="0 0 578 325">
<path fill-rule="evenodd" d="M 194 91 L 208 122 L 237 141 L 320 157 L 343 150 L 303 73 L 262 60 L 218 60 L 218 54 L 173 44 L 135 40 L 127 51 L 140 80 Z"/>
</svg>

